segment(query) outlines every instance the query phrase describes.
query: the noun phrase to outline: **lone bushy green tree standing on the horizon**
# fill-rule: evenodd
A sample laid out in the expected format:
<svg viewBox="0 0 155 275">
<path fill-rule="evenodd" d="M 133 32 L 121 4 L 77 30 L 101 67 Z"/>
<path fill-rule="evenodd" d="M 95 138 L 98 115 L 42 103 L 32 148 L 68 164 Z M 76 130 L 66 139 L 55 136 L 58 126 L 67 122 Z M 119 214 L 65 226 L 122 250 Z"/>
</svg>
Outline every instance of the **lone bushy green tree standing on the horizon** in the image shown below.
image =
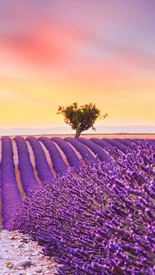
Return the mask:
<svg viewBox="0 0 155 275">
<path fill-rule="evenodd" d="M 92 103 L 84 104 L 80 107 L 77 102 L 67 107 L 59 106 L 57 113 L 62 113 L 65 117 L 65 123 L 69 124 L 73 130 L 76 130 L 76 135 L 74 136 L 76 138 L 80 136 L 81 132 L 90 128 L 95 131 L 94 122 L 98 118 L 107 118 L 107 113 L 101 115 L 101 111 Z"/>
</svg>

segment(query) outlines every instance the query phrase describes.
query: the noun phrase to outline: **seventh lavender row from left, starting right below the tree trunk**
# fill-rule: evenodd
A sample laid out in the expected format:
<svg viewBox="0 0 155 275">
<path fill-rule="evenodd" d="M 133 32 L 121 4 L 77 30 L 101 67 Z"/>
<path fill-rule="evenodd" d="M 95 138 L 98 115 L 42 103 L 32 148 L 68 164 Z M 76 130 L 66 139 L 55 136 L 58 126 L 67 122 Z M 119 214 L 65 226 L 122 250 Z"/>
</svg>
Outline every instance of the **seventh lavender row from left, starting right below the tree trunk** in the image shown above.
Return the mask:
<svg viewBox="0 0 155 275">
<path fill-rule="evenodd" d="M 103 148 L 101 148 L 101 146 L 95 144 L 91 140 L 87 140 L 87 138 L 84 138 L 84 137 L 79 137 L 78 140 L 79 140 L 79 142 L 81 142 L 82 144 L 85 144 L 85 146 L 90 148 L 92 150 L 92 152 L 94 152 L 95 155 L 97 155 L 97 157 L 99 157 L 101 162 L 109 161 L 109 157 L 108 157 L 107 153 L 105 153 L 105 151 L 103 150 Z"/>
</svg>

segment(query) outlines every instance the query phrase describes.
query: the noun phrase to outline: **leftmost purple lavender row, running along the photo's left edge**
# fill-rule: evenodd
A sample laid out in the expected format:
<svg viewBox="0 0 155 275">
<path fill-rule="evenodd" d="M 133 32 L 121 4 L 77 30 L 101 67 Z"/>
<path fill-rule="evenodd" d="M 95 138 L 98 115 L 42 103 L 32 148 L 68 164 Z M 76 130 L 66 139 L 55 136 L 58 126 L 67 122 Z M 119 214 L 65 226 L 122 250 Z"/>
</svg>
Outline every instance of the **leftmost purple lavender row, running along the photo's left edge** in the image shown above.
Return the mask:
<svg viewBox="0 0 155 275">
<path fill-rule="evenodd" d="M 14 214 L 14 210 L 21 203 L 21 194 L 17 186 L 15 175 L 12 141 L 4 136 L 2 142 L 1 157 L 1 203 L 3 229 L 8 229 L 8 223 Z"/>
</svg>

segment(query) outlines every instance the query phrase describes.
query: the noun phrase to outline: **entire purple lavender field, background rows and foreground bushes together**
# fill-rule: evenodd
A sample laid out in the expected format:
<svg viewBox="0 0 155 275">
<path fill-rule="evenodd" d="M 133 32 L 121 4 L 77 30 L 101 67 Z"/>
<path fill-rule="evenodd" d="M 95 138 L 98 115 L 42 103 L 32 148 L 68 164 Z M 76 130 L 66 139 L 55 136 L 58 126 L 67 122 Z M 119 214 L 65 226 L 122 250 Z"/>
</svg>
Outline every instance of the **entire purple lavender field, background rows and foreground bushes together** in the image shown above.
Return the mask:
<svg viewBox="0 0 155 275">
<path fill-rule="evenodd" d="M 154 139 L 0 144 L 3 229 L 30 234 L 59 274 L 155 274 Z"/>
</svg>

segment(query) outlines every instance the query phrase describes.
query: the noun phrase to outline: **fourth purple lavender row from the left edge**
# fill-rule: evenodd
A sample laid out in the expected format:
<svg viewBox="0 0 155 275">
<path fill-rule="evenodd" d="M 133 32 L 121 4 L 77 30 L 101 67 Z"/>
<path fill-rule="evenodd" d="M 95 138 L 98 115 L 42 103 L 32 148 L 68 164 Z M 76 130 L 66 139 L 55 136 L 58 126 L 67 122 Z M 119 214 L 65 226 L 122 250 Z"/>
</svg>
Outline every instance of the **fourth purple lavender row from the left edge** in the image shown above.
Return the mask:
<svg viewBox="0 0 155 275">
<path fill-rule="evenodd" d="M 61 156 L 58 148 L 56 148 L 54 142 L 52 142 L 52 140 L 48 137 L 39 137 L 38 140 L 43 142 L 45 147 L 48 149 L 55 172 L 60 175 L 65 173 L 68 170 L 68 167 L 63 161 L 63 157 Z"/>
</svg>

